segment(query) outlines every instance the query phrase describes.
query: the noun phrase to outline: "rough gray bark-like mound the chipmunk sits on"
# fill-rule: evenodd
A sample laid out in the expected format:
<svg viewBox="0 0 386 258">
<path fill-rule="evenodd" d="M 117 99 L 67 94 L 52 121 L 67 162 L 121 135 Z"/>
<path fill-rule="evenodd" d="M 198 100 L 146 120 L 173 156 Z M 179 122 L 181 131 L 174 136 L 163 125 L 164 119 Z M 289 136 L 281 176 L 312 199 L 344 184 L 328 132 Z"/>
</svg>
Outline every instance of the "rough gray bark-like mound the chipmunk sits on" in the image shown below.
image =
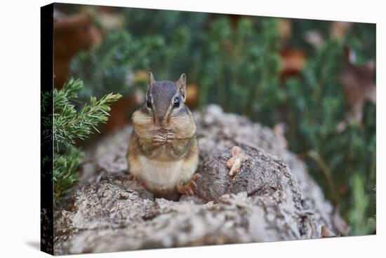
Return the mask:
<svg viewBox="0 0 386 258">
<path fill-rule="evenodd" d="M 283 137 L 215 105 L 194 116 L 195 196 L 154 198 L 128 180 L 124 128 L 87 151 L 79 184 L 55 210 L 55 254 L 320 238 L 322 226 L 338 233 L 339 215 Z M 235 145 L 245 159 L 231 177 Z"/>
</svg>

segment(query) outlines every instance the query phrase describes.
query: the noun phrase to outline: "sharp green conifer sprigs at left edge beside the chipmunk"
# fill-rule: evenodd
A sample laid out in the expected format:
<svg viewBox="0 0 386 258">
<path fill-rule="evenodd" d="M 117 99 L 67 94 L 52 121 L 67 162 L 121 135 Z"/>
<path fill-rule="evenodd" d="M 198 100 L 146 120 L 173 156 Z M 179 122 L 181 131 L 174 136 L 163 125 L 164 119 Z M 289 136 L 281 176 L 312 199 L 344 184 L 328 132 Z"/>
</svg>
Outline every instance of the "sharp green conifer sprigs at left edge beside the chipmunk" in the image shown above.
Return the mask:
<svg viewBox="0 0 386 258">
<path fill-rule="evenodd" d="M 48 116 L 46 123 L 53 125 L 53 181 L 54 199 L 58 199 L 78 179 L 79 164 L 82 151 L 75 147 L 78 140 L 84 140 L 88 135 L 99 132 L 98 125 L 106 123 L 112 102 L 119 100 L 120 94 L 109 93 L 100 97 L 91 96 L 90 102 L 81 109 L 76 109 L 75 102 L 79 90 L 84 87 L 79 79 L 69 79 L 62 89 L 54 89 L 42 96 L 42 108 L 53 100 L 53 116 Z"/>
</svg>

